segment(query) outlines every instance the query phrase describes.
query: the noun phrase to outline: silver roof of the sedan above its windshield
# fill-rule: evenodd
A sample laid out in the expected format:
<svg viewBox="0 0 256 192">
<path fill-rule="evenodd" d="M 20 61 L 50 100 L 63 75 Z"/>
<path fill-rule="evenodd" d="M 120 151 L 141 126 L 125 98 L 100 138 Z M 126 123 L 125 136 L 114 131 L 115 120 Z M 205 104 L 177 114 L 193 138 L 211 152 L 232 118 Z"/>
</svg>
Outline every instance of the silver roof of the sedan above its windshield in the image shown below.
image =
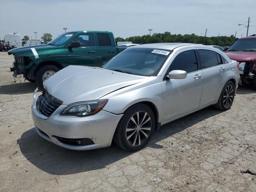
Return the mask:
<svg viewBox="0 0 256 192">
<path fill-rule="evenodd" d="M 154 49 L 167 49 L 167 50 L 174 50 L 175 48 L 188 46 L 188 47 L 205 47 L 208 48 L 209 46 L 202 45 L 202 44 L 193 44 L 193 43 L 151 43 L 151 44 L 142 44 L 132 46 L 129 49 L 133 48 L 154 48 Z"/>
</svg>

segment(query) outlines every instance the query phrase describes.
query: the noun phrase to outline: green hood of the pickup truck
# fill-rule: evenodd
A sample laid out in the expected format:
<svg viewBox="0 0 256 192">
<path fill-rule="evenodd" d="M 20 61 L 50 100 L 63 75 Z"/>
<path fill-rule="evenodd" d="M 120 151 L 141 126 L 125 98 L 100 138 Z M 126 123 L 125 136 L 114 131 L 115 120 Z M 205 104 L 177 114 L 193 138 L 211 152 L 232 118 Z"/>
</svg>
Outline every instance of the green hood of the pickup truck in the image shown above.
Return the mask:
<svg viewBox="0 0 256 192">
<path fill-rule="evenodd" d="M 49 49 L 56 49 L 58 46 L 54 46 L 54 45 L 34 45 L 34 46 L 25 46 L 25 47 L 18 47 L 18 48 L 14 48 L 8 51 L 8 54 L 22 54 L 22 53 L 28 53 L 28 52 L 32 52 L 31 48 L 35 48 L 36 50 L 49 50 Z"/>
</svg>

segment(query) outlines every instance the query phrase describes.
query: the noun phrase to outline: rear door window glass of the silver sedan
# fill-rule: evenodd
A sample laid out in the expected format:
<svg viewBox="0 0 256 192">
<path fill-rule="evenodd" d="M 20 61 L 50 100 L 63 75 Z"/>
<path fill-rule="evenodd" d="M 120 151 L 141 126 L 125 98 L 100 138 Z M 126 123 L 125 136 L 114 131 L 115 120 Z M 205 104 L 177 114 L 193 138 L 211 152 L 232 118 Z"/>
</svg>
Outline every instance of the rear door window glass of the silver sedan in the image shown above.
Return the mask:
<svg viewBox="0 0 256 192">
<path fill-rule="evenodd" d="M 216 52 L 210 50 L 199 49 L 198 55 L 201 61 L 202 68 L 208 68 L 218 65 Z"/>
</svg>

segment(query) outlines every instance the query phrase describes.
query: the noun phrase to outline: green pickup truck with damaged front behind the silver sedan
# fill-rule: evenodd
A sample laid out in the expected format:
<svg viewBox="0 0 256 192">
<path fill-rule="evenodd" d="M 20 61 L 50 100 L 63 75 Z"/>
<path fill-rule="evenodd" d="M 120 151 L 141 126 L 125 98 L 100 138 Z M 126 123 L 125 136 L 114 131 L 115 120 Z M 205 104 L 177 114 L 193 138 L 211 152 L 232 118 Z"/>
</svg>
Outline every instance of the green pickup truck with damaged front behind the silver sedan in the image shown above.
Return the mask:
<svg viewBox="0 0 256 192">
<path fill-rule="evenodd" d="M 126 47 L 116 47 L 112 32 L 67 32 L 45 45 L 27 46 L 8 51 L 14 55 L 13 76 L 23 74 L 40 88 L 43 82 L 69 65 L 100 66 Z"/>
</svg>

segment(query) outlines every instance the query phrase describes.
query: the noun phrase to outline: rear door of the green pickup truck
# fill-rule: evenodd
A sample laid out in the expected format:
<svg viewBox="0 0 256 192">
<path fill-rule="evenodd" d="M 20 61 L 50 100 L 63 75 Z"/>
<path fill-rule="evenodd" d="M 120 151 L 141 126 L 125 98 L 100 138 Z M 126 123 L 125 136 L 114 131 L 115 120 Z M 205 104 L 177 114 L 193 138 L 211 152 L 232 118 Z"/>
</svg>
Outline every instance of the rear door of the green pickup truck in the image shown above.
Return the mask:
<svg viewBox="0 0 256 192">
<path fill-rule="evenodd" d="M 98 66 L 117 54 L 116 44 L 110 40 L 108 33 L 96 33 Z"/>
</svg>

